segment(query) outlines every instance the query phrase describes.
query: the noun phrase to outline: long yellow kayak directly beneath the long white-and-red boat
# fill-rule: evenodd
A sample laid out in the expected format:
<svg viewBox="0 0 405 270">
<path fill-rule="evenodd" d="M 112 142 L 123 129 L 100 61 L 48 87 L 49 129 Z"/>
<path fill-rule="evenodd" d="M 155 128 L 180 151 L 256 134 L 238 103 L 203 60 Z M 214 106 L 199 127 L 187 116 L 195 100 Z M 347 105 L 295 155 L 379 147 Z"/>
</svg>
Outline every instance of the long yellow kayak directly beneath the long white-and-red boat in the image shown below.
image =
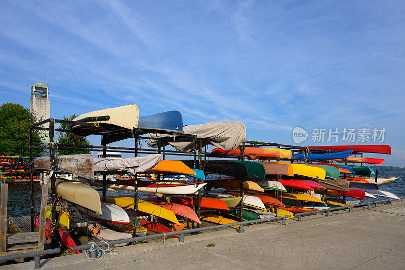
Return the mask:
<svg viewBox="0 0 405 270">
<path fill-rule="evenodd" d="M 107 198 L 105 200 L 107 203 L 115 204 L 122 208 L 134 209 L 134 198 L 133 197 L 122 197 L 122 198 Z M 173 211 L 154 205 L 143 200 L 138 200 L 139 211 L 167 219 L 173 223 L 180 225 L 177 217 Z"/>
</svg>

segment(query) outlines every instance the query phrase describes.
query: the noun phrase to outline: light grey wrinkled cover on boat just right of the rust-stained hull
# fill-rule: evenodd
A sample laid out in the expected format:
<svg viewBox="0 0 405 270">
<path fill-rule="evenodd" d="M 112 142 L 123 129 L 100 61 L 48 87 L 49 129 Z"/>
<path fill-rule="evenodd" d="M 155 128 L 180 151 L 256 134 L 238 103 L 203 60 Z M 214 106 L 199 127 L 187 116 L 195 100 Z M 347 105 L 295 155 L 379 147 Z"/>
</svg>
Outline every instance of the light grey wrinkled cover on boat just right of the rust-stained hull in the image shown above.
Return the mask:
<svg viewBox="0 0 405 270">
<path fill-rule="evenodd" d="M 136 157 L 128 159 L 94 159 L 95 172 L 128 172 L 132 174 L 145 172 L 157 165 L 160 161 L 160 154 L 146 157 Z"/>
</svg>

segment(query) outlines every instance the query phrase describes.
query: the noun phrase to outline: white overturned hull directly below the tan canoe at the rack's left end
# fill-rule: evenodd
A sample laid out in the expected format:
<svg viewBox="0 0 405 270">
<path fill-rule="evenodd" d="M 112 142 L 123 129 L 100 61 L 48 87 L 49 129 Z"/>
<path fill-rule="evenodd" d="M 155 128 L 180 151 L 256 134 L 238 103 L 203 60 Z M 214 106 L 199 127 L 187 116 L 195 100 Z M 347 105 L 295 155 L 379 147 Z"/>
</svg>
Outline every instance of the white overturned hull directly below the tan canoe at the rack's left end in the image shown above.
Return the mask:
<svg viewBox="0 0 405 270">
<path fill-rule="evenodd" d="M 88 215 L 95 220 L 121 224 L 127 224 L 131 222 L 127 212 L 115 204 L 101 202 L 102 214 L 99 214 L 79 205 L 77 205 L 76 207 L 80 213 Z"/>
</svg>

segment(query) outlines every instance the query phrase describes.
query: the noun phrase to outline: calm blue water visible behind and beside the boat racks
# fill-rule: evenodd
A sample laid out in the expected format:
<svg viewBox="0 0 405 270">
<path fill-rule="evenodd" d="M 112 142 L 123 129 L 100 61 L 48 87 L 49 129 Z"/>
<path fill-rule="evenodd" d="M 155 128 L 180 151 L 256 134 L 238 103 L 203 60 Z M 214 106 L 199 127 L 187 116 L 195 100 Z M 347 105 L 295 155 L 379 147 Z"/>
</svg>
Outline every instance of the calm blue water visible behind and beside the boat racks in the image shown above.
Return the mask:
<svg viewBox="0 0 405 270">
<path fill-rule="evenodd" d="M 398 197 L 405 197 L 405 171 L 378 171 L 379 177 L 393 177 L 399 176 L 398 179 L 391 181 L 387 184 L 380 184 L 380 190 L 393 192 Z M 41 206 L 41 187 L 39 183 L 34 183 L 34 208 L 39 211 Z M 114 194 L 115 192 L 107 191 L 107 194 Z M 130 193 L 129 196 L 132 196 Z M 385 199 L 380 197 L 380 199 Z M 29 215 L 29 183 L 11 183 L 9 184 L 9 199 L 7 205 L 7 215 L 21 216 Z"/>
</svg>

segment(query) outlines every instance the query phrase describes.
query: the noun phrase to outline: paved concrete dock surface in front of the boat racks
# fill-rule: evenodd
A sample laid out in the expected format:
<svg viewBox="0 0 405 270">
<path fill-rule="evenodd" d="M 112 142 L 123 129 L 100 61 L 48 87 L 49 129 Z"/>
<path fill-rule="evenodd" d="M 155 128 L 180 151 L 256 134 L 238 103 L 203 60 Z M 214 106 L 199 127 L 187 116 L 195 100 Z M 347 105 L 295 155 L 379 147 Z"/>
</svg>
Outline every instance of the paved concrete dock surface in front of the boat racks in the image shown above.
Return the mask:
<svg viewBox="0 0 405 270">
<path fill-rule="evenodd" d="M 342 213 L 342 211 L 340 211 Z M 405 202 L 42 260 L 45 269 L 404 269 Z M 207 247 L 214 243 L 214 247 Z M 33 262 L 4 268 L 32 269 Z"/>
</svg>

